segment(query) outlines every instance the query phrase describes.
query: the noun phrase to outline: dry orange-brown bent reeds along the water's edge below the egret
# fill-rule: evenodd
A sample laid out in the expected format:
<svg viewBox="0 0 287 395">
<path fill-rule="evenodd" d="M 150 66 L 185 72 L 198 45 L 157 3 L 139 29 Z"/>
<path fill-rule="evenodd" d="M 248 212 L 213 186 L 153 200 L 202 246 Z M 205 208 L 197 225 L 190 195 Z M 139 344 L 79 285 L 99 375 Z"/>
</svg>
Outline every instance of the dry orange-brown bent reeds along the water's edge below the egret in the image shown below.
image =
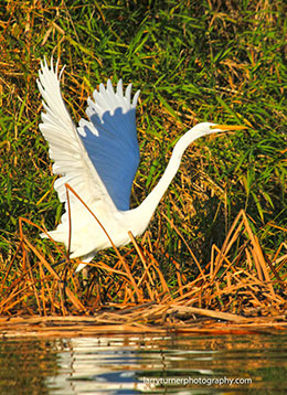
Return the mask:
<svg viewBox="0 0 287 395">
<path fill-rule="evenodd" d="M 83 286 L 59 246 L 65 261 L 59 270 L 53 268 L 53 258 L 45 257 L 24 235 L 23 222 L 36 226 L 20 220 L 20 244 L 2 274 L 2 333 L 225 333 L 287 327 L 286 244 L 267 256 L 244 211 L 222 247 L 212 246 L 211 260 L 192 281 L 171 259 L 176 286 L 161 271 L 155 258 L 158 247 L 148 233 L 141 244 L 130 234 L 134 246 L 125 255 L 117 250 L 114 267 L 91 264 L 95 277 Z"/>
</svg>

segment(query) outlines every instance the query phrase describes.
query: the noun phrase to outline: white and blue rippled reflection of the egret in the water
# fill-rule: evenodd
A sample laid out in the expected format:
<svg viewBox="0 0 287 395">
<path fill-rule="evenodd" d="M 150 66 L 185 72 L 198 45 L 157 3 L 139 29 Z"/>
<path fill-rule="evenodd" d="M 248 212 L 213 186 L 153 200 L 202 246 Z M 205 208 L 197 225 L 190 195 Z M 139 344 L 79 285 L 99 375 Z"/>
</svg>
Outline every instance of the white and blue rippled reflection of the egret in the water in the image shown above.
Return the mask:
<svg viewBox="0 0 287 395">
<path fill-rule="evenodd" d="M 144 389 L 141 369 L 144 338 L 72 338 L 56 341 L 57 369 L 46 378 L 51 394 L 136 394 Z M 150 341 L 155 349 L 157 344 Z M 51 351 L 52 352 L 52 351 Z M 139 355 L 138 355 L 139 354 Z M 155 356 L 156 354 L 156 356 Z M 149 363 L 162 364 L 161 353 Z"/>
</svg>

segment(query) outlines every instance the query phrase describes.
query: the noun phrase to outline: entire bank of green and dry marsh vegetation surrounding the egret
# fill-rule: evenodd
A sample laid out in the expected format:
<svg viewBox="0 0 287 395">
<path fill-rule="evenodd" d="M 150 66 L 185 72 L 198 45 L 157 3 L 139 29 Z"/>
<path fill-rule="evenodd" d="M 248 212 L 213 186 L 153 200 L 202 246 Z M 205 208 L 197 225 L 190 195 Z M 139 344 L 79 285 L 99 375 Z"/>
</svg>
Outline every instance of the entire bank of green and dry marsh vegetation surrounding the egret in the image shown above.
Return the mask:
<svg viewBox="0 0 287 395">
<path fill-rule="evenodd" d="M 145 322 L 159 323 L 171 305 L 283 317 L 286 11 L 279 0 L 4 2 L 2 314 L 91 314 L 152 302 L 158 310 Z M 107 78 L 141 90 L 141 162 L 132 206 L 155 186 L 174 142 L 193 125 L 248 126 L 193 143 L 146 235 L 120 249 L 121 258 L 114 250 L 100 253 L 85 288 L 68 259 L 53 268 L 65 258 L 64 249 L 39 237 L 39 227 L 54 228 L 62 213 L 38 128 L 42 105 L 35 79 L 44 55 L 66 64 L 62 88 L 75 121 Z M 193 312 L 182 314 L 189 320 Z"/>
</svg>

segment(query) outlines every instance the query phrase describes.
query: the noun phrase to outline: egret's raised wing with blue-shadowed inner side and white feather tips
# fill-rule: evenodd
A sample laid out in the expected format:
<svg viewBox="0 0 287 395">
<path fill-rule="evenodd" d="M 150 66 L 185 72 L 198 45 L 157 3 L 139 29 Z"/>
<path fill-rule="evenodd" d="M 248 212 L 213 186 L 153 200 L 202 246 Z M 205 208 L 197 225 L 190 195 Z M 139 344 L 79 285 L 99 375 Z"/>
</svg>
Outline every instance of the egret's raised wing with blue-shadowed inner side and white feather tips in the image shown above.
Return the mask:
<svg viewBox="0 0 287 395">
<path fill-rule="evenodd" d="M 121 79 L 114 92 L 108 79 L 107 87 L 99 85 L 87 100 L 89 121 L 81 119 L 78 132 L 118 210 L 129 210 L 132 181 L 139 164 L 139 147 L 136 129 L 136 106 L 139 90 L 130 103 L 131 84 L 123 93 Z"/>
</svg>

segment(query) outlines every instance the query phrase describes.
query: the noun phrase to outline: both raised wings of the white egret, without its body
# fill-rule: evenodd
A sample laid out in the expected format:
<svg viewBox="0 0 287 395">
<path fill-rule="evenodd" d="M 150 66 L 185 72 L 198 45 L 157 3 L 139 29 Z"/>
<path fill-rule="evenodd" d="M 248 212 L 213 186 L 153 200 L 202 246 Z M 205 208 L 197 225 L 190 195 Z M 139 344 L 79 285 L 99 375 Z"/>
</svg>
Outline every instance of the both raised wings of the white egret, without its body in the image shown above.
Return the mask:
<svg viewBox="0 0 287 395">
<path fill-rule="evenodd" d="M 130 103 L 131 84 L 123 93 L 118 82 L 116 93 L 110 81 L 99 85 L 94 99 L 88 99 L 89 121 L 81 119 L 76 129 L 60 89 L 57 66 L 41 63 L 39 89 L 43 96 L 40 129 L 49 141 L 53 172 L 63 175 L 55 182 L 61 202 L 66 201 L 68 183 L 87 203 L 102 201 L 107 209 L 129 209 L 131 184 L 139 163 L 136 131 L 136 105 L 139 92 Z M 94 204 L 95 206 L 95 204 Z M 64 217 L 66 220 L 66 217 Z M 63 221 L 63 217 L 62 217 Z"/>
</svg>

